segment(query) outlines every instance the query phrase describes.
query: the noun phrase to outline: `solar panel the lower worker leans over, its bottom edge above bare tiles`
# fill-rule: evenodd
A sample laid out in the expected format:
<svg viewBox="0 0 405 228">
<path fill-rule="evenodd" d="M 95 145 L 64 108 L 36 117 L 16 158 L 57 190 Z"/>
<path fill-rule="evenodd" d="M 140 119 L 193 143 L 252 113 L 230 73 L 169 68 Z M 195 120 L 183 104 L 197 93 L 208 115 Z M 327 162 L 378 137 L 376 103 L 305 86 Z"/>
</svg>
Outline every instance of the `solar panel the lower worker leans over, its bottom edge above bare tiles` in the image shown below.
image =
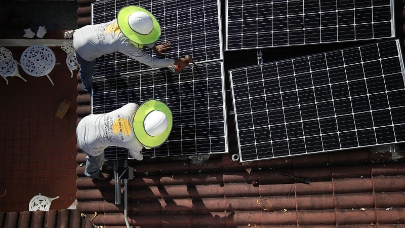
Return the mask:
<svg viewBox="0 0 405 228">
<path fill-rule="evenodd" d="M 163 145 L 143 153 L 151 157 L 227 153 L 223 71 L 223 62 L 216 62 L 183 68 L 180 77 L 170 70 L 155 70 L 94 80 L 92 111 L 106 113 L 129 102 L 160 100 L 172 110 L 172 132 Z M 105 150 L 106 160 L 129 158 L 128 149 Z"/>
</svg>

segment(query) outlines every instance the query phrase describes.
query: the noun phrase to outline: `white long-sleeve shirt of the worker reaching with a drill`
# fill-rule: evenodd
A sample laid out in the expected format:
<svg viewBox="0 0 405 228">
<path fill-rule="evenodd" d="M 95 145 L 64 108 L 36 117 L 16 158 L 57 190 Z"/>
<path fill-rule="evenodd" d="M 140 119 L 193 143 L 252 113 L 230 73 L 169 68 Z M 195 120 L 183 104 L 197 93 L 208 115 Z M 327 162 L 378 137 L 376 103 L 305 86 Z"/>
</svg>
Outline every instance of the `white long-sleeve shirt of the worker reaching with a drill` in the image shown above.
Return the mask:
<svg viewBox="0 0 405 228">
<path fill-rule="evenodd" d="M 87 61 L 93 61 L 113 52 L 121 52 L 153 68 L 174 65 L 173 59 L 153 58 L 131 44 L 124 33 L 119 30 L 116 20 L 77 29 L 73 33 L 73 46 L 80 57 Z M 154 44 L 147 46 L 153 48 Z"/>
</svg>

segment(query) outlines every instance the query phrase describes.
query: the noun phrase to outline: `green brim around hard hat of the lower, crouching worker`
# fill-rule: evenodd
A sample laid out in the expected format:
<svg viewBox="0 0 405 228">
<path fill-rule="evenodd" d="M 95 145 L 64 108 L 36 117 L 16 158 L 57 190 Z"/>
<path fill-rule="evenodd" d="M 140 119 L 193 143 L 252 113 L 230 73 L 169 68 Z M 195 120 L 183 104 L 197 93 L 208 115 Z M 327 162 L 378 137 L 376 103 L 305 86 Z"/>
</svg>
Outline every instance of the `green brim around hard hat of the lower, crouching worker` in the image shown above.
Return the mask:
<svg viewBox="0 0 405 228">
<path fill-rule="evenodd" d="M 146 133 L 144 128 L 144 121 L 146 116 L 154 110 L 161 111 L 165 113 L 166 118 L 168 119 L 168 127 L 166 130 L 157 135 L 150 136 Z M 133 130 L 135 137 L 138 141 L 146 148 L 150 149 L 153 147 L 160 146 L 163 144 L 170 135 L 173 125 L 173 116 L 170 108 L 163 102 L 158 100 L 148 100 L 145 103 L 141 104 L 138 107 L 138 110 L 135 112 L 134 121 L 133 121 Z"/>
</svg>

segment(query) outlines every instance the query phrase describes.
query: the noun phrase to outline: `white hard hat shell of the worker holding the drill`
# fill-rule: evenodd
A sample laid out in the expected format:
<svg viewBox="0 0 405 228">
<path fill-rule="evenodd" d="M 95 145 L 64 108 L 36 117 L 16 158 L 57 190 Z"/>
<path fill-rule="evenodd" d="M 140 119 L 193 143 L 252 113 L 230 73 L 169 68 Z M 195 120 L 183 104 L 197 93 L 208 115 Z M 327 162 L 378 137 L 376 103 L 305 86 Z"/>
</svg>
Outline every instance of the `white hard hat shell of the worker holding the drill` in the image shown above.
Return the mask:
<svg viewBox="0 0 405 228">
<path fill-rule="evenodd" d="M 142 35 L 149 34 L 153 29 L 153 20 L 149 14 L 138 11 L 128 17 L 128 24 L 135 32 Z"/>
</svg>

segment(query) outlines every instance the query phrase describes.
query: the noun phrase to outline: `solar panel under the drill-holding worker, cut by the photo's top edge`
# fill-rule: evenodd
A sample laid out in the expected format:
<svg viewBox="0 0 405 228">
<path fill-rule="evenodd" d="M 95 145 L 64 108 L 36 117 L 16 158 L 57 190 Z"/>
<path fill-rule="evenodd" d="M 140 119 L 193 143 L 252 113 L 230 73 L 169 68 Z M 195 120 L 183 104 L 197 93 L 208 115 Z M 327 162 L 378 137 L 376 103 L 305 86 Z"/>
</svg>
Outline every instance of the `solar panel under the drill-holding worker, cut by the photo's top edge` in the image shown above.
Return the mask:
<svg viewBox="0 0 405 228">
<path fill-rule="evenodd" d="M 112 21 L 118 11 L 136 5 L 149 10 L 157 19 L 161 36 L 156 44 L 170 42 L 167 59 L 191 55 L 195 62 L 222 60 L 222 30 L 219 0 L 191 1 L 127 1 L 112 0 L 92 4 L 92 24 Z M 143 49 L 153 55 L 150 48 Z M 162 56 L 154 56 L 165 58 Z M 114 52 L 96 59 L 94 78 L 149 70 L 125 54 Z"/>
</svg>

